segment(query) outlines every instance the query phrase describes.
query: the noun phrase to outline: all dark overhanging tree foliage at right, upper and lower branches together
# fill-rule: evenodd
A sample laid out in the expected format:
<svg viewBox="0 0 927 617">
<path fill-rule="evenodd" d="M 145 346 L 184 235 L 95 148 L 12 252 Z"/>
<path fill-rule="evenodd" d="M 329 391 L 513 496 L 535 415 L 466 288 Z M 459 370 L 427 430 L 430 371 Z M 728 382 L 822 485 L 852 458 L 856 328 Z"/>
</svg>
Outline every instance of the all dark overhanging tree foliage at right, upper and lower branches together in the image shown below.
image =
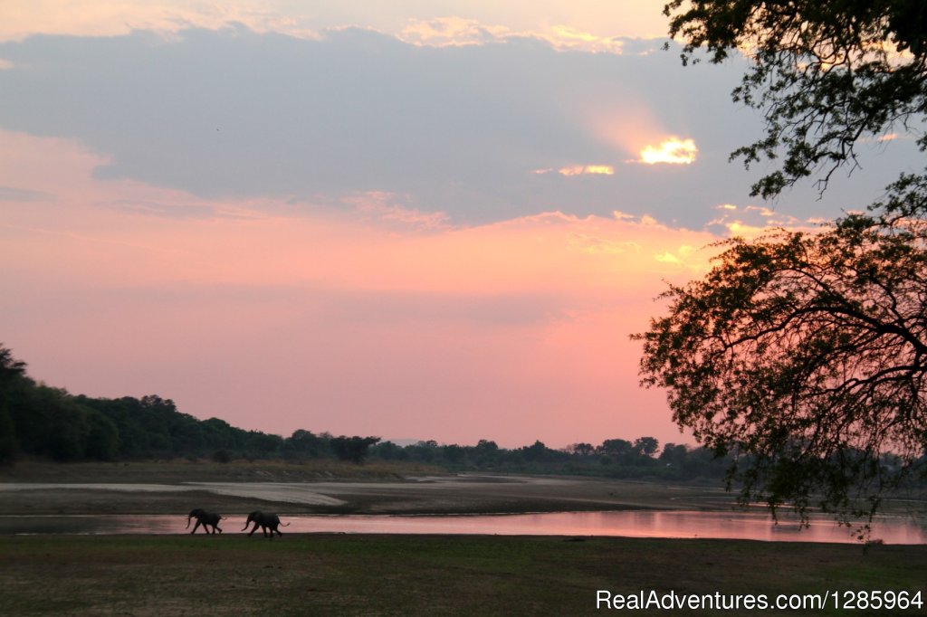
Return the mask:
<svg viewBox="0 0 927 617">
<path fill-rule="evenodd" d="M 927 3 L 671 0 L 684 63 L 750 63 L 732 94 L 765 134 L 733 158 L 775 198 L 895 133 L 918 145 L 881 200 L 819 232 L 730 238 L 637 334 L 642 384 L 721 456 L 744 503 L 867 519 L 927 479 Z"/>
</svg>

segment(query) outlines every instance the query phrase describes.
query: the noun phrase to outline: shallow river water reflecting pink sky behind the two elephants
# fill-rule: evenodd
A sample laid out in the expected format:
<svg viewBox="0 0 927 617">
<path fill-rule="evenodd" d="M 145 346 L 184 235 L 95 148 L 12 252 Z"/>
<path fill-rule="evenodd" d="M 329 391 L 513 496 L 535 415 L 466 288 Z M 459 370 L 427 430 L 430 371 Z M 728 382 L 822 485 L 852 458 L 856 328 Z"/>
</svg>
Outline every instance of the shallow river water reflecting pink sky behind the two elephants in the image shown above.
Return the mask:
<svg viewBox="0 0 927 617">
<path fill-rule="evenodd" d="M 772 522 L 767 513 L 743 511 L 551 512 L 540 514 L 386 516 L 282 516 L 289 533 L 479 534 L 479 535 L 614 535 L 667 538 L 730 538 L 788 542 L 856 542 L 851 530 L 829 518 L 812 518 L 803 528 L 794 519 Z M 244 516 L 222 521 L 225 534 L 238 534 Z M 184 534 L 186 517 L 148 516 L 0 516 L 2 534 Z M 191 527 L 192 528 L 192 527 Z M 201 532 L 197 532 L 201 534 Z M 260 530 L 257 535 L 260 535 Z M 882 517 L 872 538 L 885 544 L 927 544 L 923 523 L 905 517 Z"/>
</svg>

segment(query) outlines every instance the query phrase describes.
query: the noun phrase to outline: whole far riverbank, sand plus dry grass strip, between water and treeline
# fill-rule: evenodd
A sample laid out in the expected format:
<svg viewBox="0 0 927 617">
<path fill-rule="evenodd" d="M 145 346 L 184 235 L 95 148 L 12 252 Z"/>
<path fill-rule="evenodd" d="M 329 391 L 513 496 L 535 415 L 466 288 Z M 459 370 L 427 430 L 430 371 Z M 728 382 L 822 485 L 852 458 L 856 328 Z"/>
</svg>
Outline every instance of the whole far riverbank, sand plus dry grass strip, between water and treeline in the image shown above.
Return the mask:
<svg viewBox="0 0 927 617">
<path fill-rule="evenodd" d="M 353 475 L 350 475 L 353 473 Z M 29 463 L 0 472 L 0 515 L 488 514 L 730 510 L 716 486 L 286 463 Z"/>
</svg>

